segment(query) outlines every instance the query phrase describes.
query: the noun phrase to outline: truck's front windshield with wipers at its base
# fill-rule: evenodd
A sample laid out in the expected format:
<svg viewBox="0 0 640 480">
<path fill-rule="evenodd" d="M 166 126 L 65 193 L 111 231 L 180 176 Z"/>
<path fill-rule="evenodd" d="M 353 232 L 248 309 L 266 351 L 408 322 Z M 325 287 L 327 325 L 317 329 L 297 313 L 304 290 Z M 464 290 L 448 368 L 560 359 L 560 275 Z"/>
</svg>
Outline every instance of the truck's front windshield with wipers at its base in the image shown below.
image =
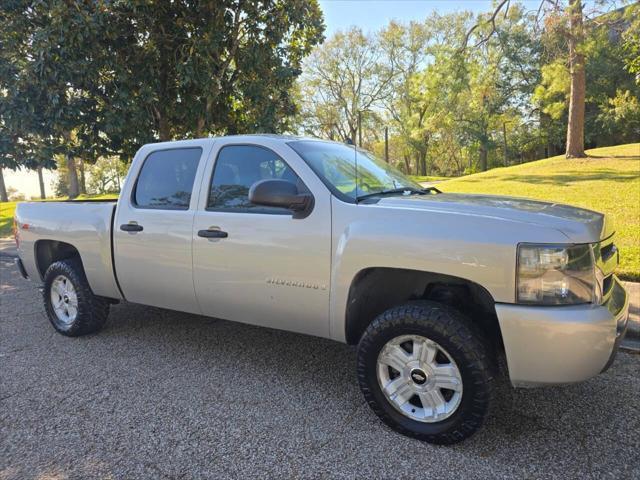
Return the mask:
<svg viewBox="0 0 640 480">
<path fill-rule="evenodd" d="M 422 187 L 370 152 L 336 142 L 299 140 L 289 146 L 300 155 L 316 174 L 338 196 L 352 200 L 365 195 L 403 188 Z M 356 157 L 358 184 L 356 185 Z"/>
</svg>

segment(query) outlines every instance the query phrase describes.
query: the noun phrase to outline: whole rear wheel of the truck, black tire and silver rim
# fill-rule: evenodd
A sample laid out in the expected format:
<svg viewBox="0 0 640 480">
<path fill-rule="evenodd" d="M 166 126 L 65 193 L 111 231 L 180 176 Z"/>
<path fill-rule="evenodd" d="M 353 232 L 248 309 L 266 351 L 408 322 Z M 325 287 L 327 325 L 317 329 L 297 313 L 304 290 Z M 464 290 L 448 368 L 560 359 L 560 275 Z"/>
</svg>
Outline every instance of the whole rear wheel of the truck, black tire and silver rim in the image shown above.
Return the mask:
<svg viewBox="0 0 640 480">
<path fill-rule="evenodd" d="M 69 337 L 97 332 L 109 315 L 109 303 L 93 294 L 82 264 L 75 258 L 49 266 L 43 297 L 53 328 Z"/>
</svg>

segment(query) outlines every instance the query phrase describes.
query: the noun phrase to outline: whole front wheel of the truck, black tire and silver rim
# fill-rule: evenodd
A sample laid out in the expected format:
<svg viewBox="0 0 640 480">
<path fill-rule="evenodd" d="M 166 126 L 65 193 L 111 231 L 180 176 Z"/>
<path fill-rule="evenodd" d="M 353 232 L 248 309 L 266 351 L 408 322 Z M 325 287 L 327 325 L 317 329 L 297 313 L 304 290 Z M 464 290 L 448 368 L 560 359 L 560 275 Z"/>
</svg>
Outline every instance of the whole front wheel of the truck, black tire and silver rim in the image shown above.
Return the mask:
<svg viewBox="0 0 640 480">
<path fill-rule="evenodd" d="M 480 332 L 458 311 L 427 301 L 391 308 L 369 325 L 358 380 L 384 423 L 445 445 L 480 428 L 494 381 Z"/>
</svg>

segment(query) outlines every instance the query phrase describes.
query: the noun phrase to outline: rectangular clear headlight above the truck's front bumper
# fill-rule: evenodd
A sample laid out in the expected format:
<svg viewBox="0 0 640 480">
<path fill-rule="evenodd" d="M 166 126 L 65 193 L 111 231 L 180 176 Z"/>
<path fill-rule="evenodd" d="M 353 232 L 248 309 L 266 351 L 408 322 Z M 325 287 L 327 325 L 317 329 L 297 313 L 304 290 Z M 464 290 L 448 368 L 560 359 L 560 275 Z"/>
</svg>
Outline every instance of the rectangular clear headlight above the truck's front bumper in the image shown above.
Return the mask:
<svg viewBox="0 0 640 480">
<path fill-rule="evenodd" d="M 575 305 L 596 301 L 591 245 L 518 245 L 518 303 Z"/>
</svg>

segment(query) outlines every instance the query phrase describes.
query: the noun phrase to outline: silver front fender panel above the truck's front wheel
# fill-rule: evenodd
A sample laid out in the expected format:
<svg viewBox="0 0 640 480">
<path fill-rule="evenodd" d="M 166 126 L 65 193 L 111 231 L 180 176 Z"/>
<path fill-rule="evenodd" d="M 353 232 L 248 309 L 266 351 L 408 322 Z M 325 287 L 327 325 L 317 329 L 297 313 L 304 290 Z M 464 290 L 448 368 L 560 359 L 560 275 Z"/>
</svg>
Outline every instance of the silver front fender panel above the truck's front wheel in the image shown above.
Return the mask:
<svg viewBox="0 0 640 480">
<path fill-rule="evenodd" d="M 519 242 L 566 242 L 561 232 L 521 222 L 334 201 L 330 335 L 346 341 L 349 289 L 358 273 L 386 267 L 458 277 L 513 303 Z"/>
</svg>

